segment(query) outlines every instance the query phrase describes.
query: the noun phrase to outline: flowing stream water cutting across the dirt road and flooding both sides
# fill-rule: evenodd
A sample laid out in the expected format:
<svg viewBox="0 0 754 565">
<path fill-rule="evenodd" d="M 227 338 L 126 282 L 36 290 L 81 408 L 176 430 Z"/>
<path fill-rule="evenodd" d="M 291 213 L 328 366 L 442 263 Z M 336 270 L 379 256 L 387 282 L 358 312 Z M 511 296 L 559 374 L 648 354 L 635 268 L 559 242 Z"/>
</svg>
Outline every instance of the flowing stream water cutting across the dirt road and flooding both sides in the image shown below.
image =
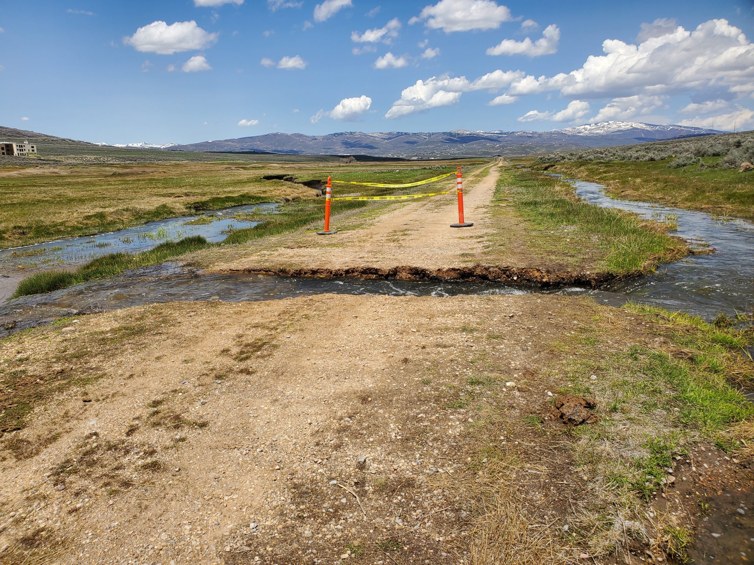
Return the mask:
<svg viewBox="0 0 754 565">
<path fill-rule="evenodd" d="M 685 310 L 707 319 L 720 312 L 751 312 L 754 308 L 754 224 L 743 220 L 713 218 L 703 212 L 630 202 L 608 197 L 602 185 L 569 180 L 576 194 L 596 206 L 621 208 L 644 218 L 661 220 L 677 217 L 677 235 L 698 246 L 716 249 L 708 255 L 689 255 L 680 261 L 661 265 L 651 276 L 615 282 L 603 289 L 532 289 L 489 281 L 404 281 L 383 279 L 314 279 L 252 273 L 203 273 L 201 270 L 166 263 L 142 267 L 114 279 L 95 280 L 49 292 L 16 298 L 0 304 L 0 336 L 53 321 L 60 316 L 103 312 L 118 308 L 169 301 L 262 301 L 326 292 L 339 294 L 452 295 L 524 294 L 547 292 L 563 295 L 588 295 L 596 301 L 620 306 L 626 301 L 654 304 L 668 310 Z M 238 213 L 274 213 L 275 204 L 235 206 L 207 212 L 216 220 L 206 224 L 187 224 L 197 217 L 171 218 L 135 228 L 93 237 L 77 237 L 35 246 L 0 250 L 0 273 L 19 264 L 20 256 L 35 256 L 50 266 L 72 266 L 116 251 L 139 252 L 151 249 L 160 237 L 178 239 L 202 235 L 221 241 L 228 228 L 247 228 Z M 201 216 L 200 216 L 201 218 Z M 243 218 L 243 216 L 241 216 Z M 151 235 L 147 235 L 151 234 Z M 167 234 L 167 236 L 166 236 Z M 16 271 L 17 272 L 17 271 Z M 14 273 L 14 277 L 17 274 Z M 7 275 L 6 275 L 7 276 Z M 0 279 L 2 282 L 3 279 Z M 9 279 L 6 279 L 9 280 Z"/>
</svg>

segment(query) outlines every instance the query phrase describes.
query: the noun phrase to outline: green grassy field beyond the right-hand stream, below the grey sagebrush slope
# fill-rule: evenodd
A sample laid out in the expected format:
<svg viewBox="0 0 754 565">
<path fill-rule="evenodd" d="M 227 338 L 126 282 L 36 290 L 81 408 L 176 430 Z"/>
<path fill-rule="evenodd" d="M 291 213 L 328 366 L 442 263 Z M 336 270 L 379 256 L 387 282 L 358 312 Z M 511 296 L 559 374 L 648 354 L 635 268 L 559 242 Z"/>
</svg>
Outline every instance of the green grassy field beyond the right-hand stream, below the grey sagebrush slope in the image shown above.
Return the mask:
<svg viewBox="0 0 754 565">
<path fill-rule="evenodd" d="M 703 157 L 707 165 L 720 157 Z M 754 173 L 737 169 L 669 168 L 673 159 L 659 161 L 567 161 L 537 164 L 535 169 L 575 179 L 599 182 L 608 193 L 625 200 L 658 202 L 721 216 L 754 218 Z M 530 163 L 518 160 L 516 163 Z"/>
</svg>

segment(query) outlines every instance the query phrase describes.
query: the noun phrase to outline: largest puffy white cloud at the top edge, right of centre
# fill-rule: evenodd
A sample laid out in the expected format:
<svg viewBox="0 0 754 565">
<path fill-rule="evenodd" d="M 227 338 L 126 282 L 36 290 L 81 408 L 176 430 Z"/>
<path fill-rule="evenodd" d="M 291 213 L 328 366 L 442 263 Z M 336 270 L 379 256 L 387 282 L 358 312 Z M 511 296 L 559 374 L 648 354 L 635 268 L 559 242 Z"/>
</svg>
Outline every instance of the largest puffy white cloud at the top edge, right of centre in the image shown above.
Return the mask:
<svg viewBox="0 0 754 565">
<path fill-rule="evenodd" d="M 409 24 L 425 20 L 428 28 L 450 33 L 498 29 L 501 23 L 512 19 L 510 10 L 494 0 L 440 0 L 434 6 L 425 6 Z"/>
</svg>

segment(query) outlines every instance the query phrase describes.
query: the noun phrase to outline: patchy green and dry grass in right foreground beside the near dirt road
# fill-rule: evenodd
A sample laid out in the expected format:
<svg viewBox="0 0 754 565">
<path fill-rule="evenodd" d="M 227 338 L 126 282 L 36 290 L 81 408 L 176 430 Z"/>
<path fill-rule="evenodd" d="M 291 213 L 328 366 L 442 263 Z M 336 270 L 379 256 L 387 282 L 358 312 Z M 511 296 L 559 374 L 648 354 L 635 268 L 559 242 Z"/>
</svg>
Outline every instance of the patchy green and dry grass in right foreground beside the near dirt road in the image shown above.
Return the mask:
<svg viewBox="0 0 754 565">
<path fill-rule="evenodd" d="M 673 458 L 696 442 L 735 454 L 752 441 L 731 430 L 746 435 L 740 426 L 754 418 L 754 404 L 740 392 L 754 383 L 754 364 L 745 353 L 754 334 L 658 307 L 625 308 L 651 322 L 648 328 L 666 345 L 619 351 L 608 346 L 609 353 L 594 355 L 590 351 L 602 350 L 609 336 L 600 334 L 596 347 L 585 349 L 579 334 L 592 328 L 584 326 L 562 352 L 578 361 L 566 371 L 570 386 L 559 392 L 596 397 L 602 415 L 596 425 L 573 430 L 583 441 L 577 444 L 581 468 L 604 478 L 610 490 L 649 499 L 664 485 Z M 590 374 L 599 379 L 590 380 Z M 602 449 L 605 443 L 610 450 Z"/>
</svg>

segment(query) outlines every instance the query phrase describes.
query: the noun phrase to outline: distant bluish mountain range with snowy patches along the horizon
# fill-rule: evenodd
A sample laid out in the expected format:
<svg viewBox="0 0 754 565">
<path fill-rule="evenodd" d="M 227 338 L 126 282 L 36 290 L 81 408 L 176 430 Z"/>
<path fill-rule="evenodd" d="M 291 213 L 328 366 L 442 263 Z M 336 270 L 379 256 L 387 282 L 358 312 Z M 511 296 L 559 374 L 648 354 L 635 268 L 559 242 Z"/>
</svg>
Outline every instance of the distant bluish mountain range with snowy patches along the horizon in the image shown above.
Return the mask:
<svg viewBox="0 0 754 565">
<path fill-rule="evenodd" d="M 435 133 L 330 133 L 326 136 L 306 136 L 303 133 L 267 133 L 262 136 L 220 139 L 188 145 L 147 142 L 108 145 L 106 143 L 74 142 L 41 133 L 0 127 L 0 137 L 37 139 L 38 142 L 72 142 L 83 149 L 116 147 L 155 151 L 210 151 L 234 153 L 281 153 L 302 155 L 369 155 L 374 157 L 484 157 L 491 155 L 539 154 L 552 151 L 570 151 L 605 147 L 607 145 L 633 145 L 642 142 L 673 139 L 677 137 L 708 136 L 725 133 L 701 127 L 679 125 L 654 125 L 639 122 L 606 121 L 584 124 L 553 131 L 466 131 L 454 130 Z M 3 141 L 3 139 L 0 139 Z M 60 147 L 60 154 L 63 148 Z"/>
</svg>

